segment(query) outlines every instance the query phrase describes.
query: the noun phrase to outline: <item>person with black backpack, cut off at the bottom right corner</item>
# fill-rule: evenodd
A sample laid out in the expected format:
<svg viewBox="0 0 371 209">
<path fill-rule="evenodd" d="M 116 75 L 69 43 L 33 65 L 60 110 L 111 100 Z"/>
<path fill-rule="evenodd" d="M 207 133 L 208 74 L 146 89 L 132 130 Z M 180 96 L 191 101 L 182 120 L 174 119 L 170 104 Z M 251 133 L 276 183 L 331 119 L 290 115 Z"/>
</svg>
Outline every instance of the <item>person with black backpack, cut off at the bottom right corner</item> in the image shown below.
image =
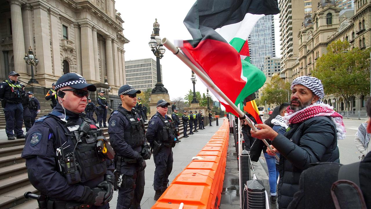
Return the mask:
<svg viewBox="0 0 371 209">
<path fill-rule="evenodd" d="M 366 102 L 366 110 L 369 118 L 365 129 L 370 135 L 371 98 Z M 357 163 L 313 165 L 301 174 L 299 191 L 295 193 L 289 209 L 371 208 L 370 152 L 365 154 L 364 160 Z"/>
</svg>

